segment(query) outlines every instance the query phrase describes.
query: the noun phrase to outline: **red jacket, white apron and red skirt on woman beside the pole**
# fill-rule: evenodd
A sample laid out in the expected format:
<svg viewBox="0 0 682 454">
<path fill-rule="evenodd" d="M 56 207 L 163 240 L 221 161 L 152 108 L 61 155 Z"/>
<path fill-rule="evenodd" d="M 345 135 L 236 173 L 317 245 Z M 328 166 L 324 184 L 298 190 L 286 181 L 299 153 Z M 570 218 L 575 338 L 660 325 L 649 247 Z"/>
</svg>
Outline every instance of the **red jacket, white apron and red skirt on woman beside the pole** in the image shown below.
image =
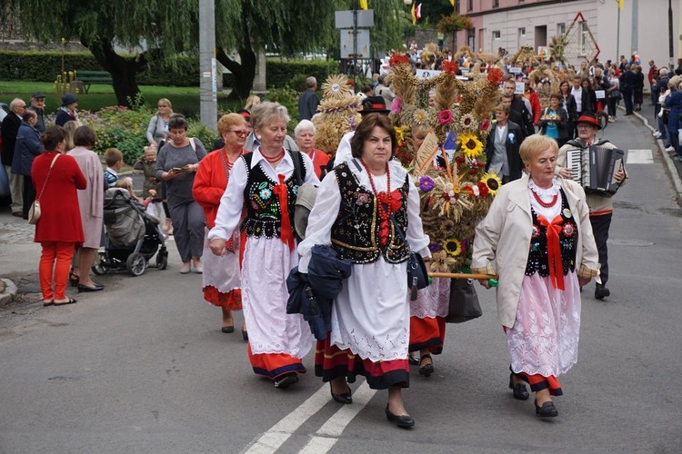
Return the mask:
<svg viewBox="0 0 682 454">
<path fill-rule="evenodd" d="M 244 151 L 242 150 L 243 154 Z M 211 252 L 208 231 L 216 225 L 216 214 L 220 199 L 225 193 L 229 174 L 234 163 L 230 163 L 225 148 L 206 154 L 196 171 L 192 195 L 204 209 L 206 216 L 206 238 L 204 241 L 204 272 L 202 291 L 204 299 L 214 306 L 230 311 L 242 309 L 242 291 L 239 269 L 239 232 L 235 230 L 227 242 L 229 253 L 216 255 Z M 241 219 L 241 217 L 240 217 Z"/>
</svg>

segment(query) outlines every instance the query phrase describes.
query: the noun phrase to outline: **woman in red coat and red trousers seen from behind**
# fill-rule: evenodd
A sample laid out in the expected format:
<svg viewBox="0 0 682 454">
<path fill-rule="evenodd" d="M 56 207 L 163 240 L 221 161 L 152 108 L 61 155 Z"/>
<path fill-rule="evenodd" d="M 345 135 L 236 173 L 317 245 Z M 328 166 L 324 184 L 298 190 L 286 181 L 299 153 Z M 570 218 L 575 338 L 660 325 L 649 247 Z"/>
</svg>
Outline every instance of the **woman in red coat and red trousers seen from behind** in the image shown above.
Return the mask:
<svg viewBox="0 0 682 454">
<path fill-rule="evenodd" d="M 47 128 L 41 138 L 45 152 L 31 166 L 36 199 L 41 206 L 34 241 L 43 248 L 38 278 L 44 306 L 75 302 L 66 296 L 66 279 L 74 250 L 83 242 L 77 190 L 85 189 L 87 180 L 75 159 L 64 154 L 64 138 L 62 127 Z"/>
</svg>

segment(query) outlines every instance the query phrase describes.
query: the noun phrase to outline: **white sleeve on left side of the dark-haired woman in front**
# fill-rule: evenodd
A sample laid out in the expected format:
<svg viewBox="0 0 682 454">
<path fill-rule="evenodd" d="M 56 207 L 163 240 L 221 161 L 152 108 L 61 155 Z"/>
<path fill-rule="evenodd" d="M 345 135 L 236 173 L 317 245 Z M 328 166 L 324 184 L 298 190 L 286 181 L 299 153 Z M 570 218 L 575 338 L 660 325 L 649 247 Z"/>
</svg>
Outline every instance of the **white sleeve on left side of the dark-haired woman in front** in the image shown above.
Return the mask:
<svg viewBox="0 0 682 454">
<path fill-rule="evenodd" d="M 298 253 L 301 255 L 298 271 L 307 272 L 313 246 L 316 244 L 328 246 L 332 243 L 332 226 L 336 222 L 340 206 L 341 192 L 334 173 L 330 173 L 320 184 L 315 206 L 308 216 L 306 239 L 298 244 Z"/>
</svg>

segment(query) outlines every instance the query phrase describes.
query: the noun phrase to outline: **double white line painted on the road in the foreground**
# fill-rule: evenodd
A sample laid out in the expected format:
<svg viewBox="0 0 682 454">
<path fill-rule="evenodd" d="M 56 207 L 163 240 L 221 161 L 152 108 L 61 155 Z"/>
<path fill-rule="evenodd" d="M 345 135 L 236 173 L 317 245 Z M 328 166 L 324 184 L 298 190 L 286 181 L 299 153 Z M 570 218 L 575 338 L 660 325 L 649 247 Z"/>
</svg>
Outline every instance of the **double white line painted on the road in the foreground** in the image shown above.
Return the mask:
<svg viewBox="0 0 682 454">
<path fill-rule="evenodd" d="M 277 422 L 272 428 L 266 431 L 260 439 L 246 450 L 246 454 L 273 454 L 279 449 L 296 429 L 301 427 L 307 419 L 310 419 L 316 412 L 326 405 L 329 401 L 328 385 L 322 386 L 315 394 L 310 396 L 305 402 L 286 415 L 284 419 Z M 317 430 L 306 446 L 300 451 L 305 454 L 324 454 L 332 449 L 343 433 L 346 426 L 353 420 L 360 410 L 364 409 L 369 400 L 376 394 L 376 390 L 370 390 L 367 383 L 363 383 L 353 394 L 353 404 L 344 405 L 327 419 L 325 424 Z"/>
</svg>

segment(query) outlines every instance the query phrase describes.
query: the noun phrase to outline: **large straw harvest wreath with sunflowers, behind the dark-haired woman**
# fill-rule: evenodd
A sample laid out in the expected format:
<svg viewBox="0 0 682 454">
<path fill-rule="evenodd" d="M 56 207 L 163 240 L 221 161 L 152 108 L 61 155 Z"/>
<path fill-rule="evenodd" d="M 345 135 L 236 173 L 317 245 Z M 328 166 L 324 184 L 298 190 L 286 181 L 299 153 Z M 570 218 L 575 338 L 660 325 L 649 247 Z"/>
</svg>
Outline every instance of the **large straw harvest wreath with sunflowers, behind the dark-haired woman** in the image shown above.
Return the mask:
<svg viewBox="0 0 682 454">
<path fill-rule="evenodd" d="M 446 64 L 433 79 L 417 79 L 407 64 L 391 65 L 399 108 L 389 115 L 398 135 L 396 157 L 415 178 L 421 217 L 431 243 L 431 271 L 468 272 L 476 224 L 485 217 L 502 182 L 486 173 L 486 139 L 498 100 L 499 74 L 473 81 L 456 78 Z M 436 105 L 429 105 L 435 90 Z M 396 104 L 396 100 L 394 104 Z M 415 150 L 414 136 L 433 134 L 432 149 Z M 444 143 L 455 143 L 446 153 Z M 434 165 L 438 158 L 441 165 Z"/>
</svg>

